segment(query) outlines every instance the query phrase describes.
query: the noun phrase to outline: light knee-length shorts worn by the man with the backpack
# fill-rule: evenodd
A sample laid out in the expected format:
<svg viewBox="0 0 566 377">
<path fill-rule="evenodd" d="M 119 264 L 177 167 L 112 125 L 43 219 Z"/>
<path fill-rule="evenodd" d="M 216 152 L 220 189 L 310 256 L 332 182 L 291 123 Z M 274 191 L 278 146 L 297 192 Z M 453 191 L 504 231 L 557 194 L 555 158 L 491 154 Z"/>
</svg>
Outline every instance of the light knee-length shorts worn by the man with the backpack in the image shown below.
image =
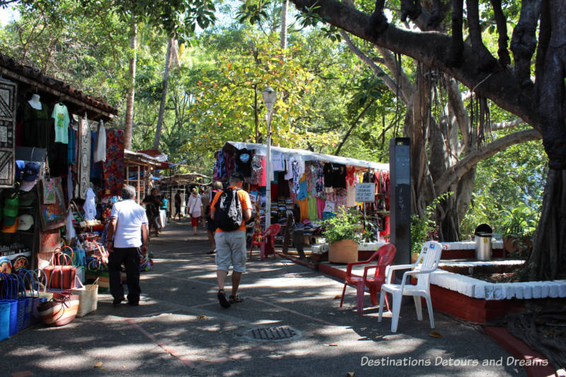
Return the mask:
<svg viewBox="0 0 566 377">
<path fill-rule="evenodd" d="M 236 272 L 246 272 L 246 232 L 216 232 L 216 268 L 229 271 L 230 265 Z"/>
</svg>

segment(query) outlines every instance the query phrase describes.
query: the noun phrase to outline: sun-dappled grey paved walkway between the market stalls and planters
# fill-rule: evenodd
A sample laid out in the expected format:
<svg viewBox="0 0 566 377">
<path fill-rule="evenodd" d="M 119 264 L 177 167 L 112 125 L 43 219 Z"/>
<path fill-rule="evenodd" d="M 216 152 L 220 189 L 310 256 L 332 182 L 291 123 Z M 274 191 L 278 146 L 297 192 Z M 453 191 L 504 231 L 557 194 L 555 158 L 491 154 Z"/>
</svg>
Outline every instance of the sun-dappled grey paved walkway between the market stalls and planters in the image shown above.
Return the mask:
<svg viewBox="0 0 566 377">
<path fill-rule="evenodd" d="M 404 306 L 393 334 L 390 318 L 378 323 L 377 311 L 355 313 L 353 288 L 339 308 L 340 282 L 281 258 L 260 262 L 256 253 L 242 279 L 245 301 L 221 308 L 207 250 L 202 228 L 193 236 L 186 222 L 169 224 L 151 241 L 156 264 L 142 274 L 141 306 L 113 307 L 111 296 L 100 295 L 95 313 L 4 340 L 0 375 L 526 376 L 472 327 L 434 313 L 441 337 L 431 337 L 426 311 L 420 323 Z M 259 325 L 290 326 L 301 336 L 247 340 Z"/>
</svg>

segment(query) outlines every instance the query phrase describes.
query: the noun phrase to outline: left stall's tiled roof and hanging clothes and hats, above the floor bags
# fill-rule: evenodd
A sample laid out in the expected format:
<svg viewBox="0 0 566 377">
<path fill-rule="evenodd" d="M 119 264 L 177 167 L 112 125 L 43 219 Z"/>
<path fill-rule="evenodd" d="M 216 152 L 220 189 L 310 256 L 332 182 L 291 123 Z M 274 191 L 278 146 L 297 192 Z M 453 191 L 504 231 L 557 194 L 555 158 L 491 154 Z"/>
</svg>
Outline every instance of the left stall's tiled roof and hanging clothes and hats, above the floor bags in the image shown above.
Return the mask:
<svg viewBox="0 0 566 377">
<path fill-rule="evenodd" d="M 102 219 L 96 200 L 123 181 L 123 134 L 108 127 L 117 115 L 108 103 L 2 54 L 0 98 L 0 253 L 37 268 L 74 235 L 71 209 Z"/>
</svg>

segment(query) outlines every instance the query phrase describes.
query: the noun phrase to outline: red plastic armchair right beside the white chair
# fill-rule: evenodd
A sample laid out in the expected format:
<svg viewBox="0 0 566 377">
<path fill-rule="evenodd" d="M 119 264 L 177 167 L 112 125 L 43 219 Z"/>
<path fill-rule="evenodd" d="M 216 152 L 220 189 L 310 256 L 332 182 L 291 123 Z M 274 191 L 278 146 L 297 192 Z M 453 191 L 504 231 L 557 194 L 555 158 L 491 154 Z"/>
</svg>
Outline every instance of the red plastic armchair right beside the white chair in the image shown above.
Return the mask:
<svg viewBox="0 0 566 377">
<path fill-rule="evenodd" d="M 371 255 L 369 260 L 363 262 L 352 262 L 348 263 L 346 269 L 346 280 L 344 282 L 344 289 L 342 289 L 342 299 L 340 300 L 340 308 L 342 308 L 342 303 L 344 302 L 344 294 L 346 292 L 347 284 L 352 284 L 356 286 L 357 290 L 357 309 L 358 314 L 364 314 L 364 290 L 367 286 L 369 288 L 369 296 L 371 297 L 371 303 L 377 305 L 377 292 L 381 292 L 381 284 L 385 282 L 385 270 L 388 265 L 391 265 L 393 259 L 395 259 L 395 245 L 387 243 L 381 246 L 374 255 Z M 364 267 L 364 277 L 352 276 L 352 266 L 354 265 L 368 265 L 377 259 L 376 265 Z M 373 276 L 368 277 L 368 270 L 375 269 L 376 272 Z M 389 310 L 389 301 L 386 298 L 387 310 Z"/>
</svg>

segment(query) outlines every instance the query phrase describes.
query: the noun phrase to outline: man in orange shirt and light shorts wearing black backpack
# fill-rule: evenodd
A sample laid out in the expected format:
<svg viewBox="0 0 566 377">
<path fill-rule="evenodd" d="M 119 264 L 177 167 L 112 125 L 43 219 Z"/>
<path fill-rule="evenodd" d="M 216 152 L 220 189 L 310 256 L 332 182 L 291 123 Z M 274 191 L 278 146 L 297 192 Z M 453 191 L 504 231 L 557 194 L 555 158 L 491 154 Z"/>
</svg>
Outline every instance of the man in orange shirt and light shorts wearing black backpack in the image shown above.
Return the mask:
<svg viewBox="0 0 566 377">
<path fill-rule="evenodd" d="M 210 217 L 216 223 L 216 279 L 218 300 L 223 308 L 241 303 L 238 286 L 246 272 L 246 221 L 251 219 L 252 204 L 248 192 L 242 190 L 243 174 L 233 173 L 230 186 L 216 193 L 210 205 Z M 224 282 L 232 265 L 232 294 L 226 299 Z"/>
</svg>

